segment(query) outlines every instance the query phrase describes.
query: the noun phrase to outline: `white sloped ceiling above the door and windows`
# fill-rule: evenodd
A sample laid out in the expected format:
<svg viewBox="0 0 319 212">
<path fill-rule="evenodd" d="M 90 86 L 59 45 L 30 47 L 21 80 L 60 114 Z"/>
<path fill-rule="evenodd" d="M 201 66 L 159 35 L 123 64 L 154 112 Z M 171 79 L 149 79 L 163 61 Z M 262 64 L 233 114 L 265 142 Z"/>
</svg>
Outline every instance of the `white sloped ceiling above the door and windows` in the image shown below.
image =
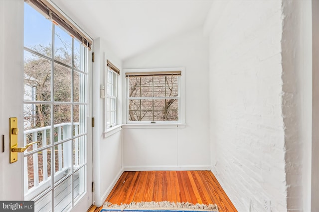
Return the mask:
<svg viewBox="0 0 319 212">
<path fill-rule="evenodd" d="M 212 0 L 52 0 L 93 39 L 125 60 L 202 26 Z"/>
</svg>

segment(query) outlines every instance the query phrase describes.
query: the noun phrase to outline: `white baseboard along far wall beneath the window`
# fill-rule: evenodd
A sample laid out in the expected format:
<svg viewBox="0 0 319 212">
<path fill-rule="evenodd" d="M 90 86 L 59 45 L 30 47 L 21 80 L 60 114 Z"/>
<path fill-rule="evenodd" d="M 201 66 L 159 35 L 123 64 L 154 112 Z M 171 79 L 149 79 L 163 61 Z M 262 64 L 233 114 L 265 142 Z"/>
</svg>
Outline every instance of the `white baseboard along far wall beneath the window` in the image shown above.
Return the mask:
<svg viewBox="0 0 319 212">
<path fill-rule="evenodd" d="M 197 166 L 125 166 L 124 171 L 201 171 L 211 170 L 210 165 Z"/>
</svg>

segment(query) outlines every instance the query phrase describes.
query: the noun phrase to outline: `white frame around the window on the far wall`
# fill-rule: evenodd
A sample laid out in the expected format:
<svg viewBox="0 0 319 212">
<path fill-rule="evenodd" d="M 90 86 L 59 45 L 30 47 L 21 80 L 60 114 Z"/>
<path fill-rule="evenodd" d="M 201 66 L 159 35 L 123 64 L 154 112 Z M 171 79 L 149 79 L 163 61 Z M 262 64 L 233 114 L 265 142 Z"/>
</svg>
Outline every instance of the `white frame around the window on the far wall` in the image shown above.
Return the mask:
<svg viewBox="0 0 319 212">
<path fill-rule="evenodd" d="M 160 68 L 160 69 L 125 69 L 125 73 L 129 72 L 159 72 L 159 71 L 181 71 L 181 75 L 178 77 L 178 121 L 129 121 L 129 82 L 126 74 L 122 75 L 123 90 L 125 90 L 125 95 L 123 102 L 126 102 L 126 107 L 124 107 L 124 123 L 127 125 L 176 125 L 185 124 L 185 69 L 182 67 L 178 68 Z"/>
</svg>

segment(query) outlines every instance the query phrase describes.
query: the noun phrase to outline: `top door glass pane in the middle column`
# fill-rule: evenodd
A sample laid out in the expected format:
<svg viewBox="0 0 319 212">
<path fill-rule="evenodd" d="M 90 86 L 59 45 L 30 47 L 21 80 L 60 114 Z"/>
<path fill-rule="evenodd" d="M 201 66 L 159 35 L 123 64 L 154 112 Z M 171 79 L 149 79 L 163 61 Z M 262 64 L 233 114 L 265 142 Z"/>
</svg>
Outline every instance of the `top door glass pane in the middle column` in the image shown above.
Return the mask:
<svg viewBox="0 0 319 212">
<path fill-rule="evenodd" d="M 72 66 L 72 37 L 60 27 L 55 27 L 54 59 Z"/>
</svg>

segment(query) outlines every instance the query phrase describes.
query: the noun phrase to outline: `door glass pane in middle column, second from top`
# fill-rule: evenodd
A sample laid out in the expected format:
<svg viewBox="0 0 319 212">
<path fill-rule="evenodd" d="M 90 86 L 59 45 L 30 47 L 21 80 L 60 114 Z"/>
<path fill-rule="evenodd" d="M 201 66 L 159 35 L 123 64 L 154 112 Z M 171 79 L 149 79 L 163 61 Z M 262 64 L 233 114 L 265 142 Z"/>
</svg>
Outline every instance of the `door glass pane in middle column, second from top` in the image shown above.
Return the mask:
<svg viewBox="0 0 319 212">
<path fill-rule="evenodd" d="M 71 69 L 55 63 L 53 75 L 54 101 L 70 102 L 72 89 Z"/>
</svg>

